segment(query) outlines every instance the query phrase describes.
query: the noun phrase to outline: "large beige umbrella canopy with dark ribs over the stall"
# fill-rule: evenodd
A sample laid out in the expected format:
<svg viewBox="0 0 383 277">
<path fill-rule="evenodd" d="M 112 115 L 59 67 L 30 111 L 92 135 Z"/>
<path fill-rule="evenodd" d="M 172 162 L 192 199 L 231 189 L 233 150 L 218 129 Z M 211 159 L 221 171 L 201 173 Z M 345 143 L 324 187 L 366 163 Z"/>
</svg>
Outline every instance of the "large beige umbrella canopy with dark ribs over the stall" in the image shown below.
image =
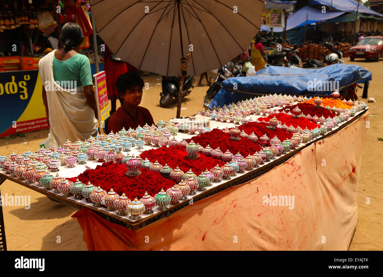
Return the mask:
<svg viewBox="0 0 383 277">
<path fill-rule="evenodd" d="M 263 5 L 260 0 L 93 0 L 91 8 L 97 34 L 116 56 L 140 70 L 174 76 L 190 49 L 188 75 L 219 68 L 241 54 L 260 30 Z"/>
</svg>

